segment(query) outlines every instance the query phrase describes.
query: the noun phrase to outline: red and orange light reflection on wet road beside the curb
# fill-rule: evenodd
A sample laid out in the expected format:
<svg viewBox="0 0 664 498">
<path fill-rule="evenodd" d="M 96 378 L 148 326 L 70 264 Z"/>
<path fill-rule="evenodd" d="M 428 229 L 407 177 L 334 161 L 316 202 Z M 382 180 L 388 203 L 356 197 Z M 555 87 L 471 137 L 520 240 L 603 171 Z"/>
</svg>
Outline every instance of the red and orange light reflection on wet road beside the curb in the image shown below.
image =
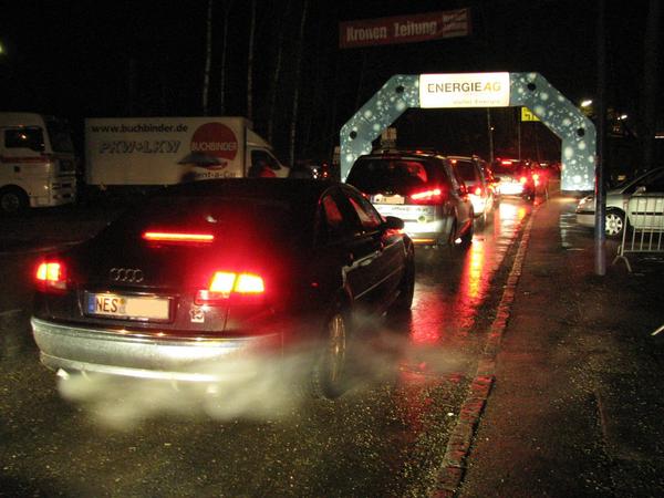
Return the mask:
<svg viewBox="0 0 664 498">
<path fill-rule="evenodd" d="M 485 227 L 475 229 L 467 249 L 417 248 L 413 311 L 402 325 L 411 342 L 402 371 L 435 375 L 449 373 L 450 365 L 471 367 L 491 280 L 532 208 L 518 198 L 502 199 Z"/>
</svg>

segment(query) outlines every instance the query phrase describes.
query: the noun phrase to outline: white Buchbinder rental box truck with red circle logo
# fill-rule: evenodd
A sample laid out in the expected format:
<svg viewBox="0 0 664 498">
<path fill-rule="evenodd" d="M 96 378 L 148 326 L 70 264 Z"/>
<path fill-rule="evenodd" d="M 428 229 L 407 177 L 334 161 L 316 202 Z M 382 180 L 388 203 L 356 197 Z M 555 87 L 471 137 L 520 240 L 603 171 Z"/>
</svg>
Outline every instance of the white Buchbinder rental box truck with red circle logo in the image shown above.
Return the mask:
<svg viewBox="0 0 664 498">
<path fill-rule="evenodd" d="M 288 174 L 243 117 L 87 118 L 85 157 L 87 184 L 101 187 L 250 176 L 259 159 Z"/>
</svg>

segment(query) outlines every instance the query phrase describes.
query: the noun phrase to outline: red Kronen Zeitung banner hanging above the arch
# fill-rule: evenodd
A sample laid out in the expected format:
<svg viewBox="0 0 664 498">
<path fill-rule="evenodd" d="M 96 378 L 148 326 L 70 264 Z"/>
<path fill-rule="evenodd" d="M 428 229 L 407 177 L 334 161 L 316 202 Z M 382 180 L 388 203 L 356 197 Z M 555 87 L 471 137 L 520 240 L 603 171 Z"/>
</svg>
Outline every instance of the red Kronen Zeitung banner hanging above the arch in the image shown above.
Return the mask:
<svg viewBox="0 0 664 498">
<path fill-rule="evenodd" d="M 339 46 L 414 43 L 470 34 L 470 10 L 428 12 L 394 18 L 345 21 L 339 25 Z"/>
</svg>

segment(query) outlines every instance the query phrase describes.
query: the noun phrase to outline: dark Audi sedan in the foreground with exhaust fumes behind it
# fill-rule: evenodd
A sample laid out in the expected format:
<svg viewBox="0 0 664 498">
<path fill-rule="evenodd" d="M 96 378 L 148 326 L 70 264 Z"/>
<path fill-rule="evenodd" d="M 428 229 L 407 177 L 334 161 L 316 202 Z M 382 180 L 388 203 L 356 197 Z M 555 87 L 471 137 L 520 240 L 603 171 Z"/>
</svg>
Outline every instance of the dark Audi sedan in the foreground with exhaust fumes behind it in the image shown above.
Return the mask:
<svg viewBox="0 0 664 498">
<path fill-rule="evenodd" d="M 41 361 L 211 384 L 228 359 L 277 361 L 310 346 L 311 392 L 338 396 L 359 343 L 357 310 L 411 307 L 414 249 L 403 227 L 334 181 L 167 187 L 41 261 L 31 319 Z"/>
</svg>

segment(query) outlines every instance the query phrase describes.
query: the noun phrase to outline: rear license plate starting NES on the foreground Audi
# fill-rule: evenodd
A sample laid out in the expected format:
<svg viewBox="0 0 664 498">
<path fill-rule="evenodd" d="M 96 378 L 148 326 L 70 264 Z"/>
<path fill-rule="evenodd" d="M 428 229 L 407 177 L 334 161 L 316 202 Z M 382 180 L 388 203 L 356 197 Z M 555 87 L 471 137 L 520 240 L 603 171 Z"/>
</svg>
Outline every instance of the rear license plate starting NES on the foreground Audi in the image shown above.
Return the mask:
<svg viewBox="0 0 664 498">
<path fill-rule="evenodd" d="M 87 293 L 85 304 L 87 314 L 143 321 L 169 319 L 167 298 Z"/>
</svg>

